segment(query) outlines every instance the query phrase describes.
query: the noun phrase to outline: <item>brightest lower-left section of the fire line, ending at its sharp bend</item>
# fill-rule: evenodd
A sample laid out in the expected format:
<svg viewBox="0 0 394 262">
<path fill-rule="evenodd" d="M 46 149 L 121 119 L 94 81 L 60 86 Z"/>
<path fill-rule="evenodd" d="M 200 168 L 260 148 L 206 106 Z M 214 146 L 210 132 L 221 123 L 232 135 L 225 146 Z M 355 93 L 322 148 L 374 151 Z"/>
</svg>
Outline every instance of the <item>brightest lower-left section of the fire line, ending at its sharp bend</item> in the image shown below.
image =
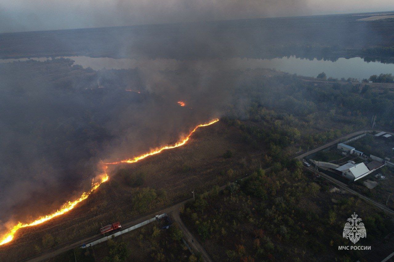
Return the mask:
<svg viewBox="0 0 394 262">
<path fill-rule="evenodd" d="M 63 206 L 61 206 L 61 208 L 59 210 L 57 210 L 56 212 L 54 212 L 52 214 L 49 214 L 46 216 L 41 216 L 37 220 L 34 220 L 33 222 L 26 223 L 26 224 L 22 224 L 22 223 L 18 222 L 17 225 L 13 226 L 13 228 L 10 230 L 9 233 L 5 234 L 2 238 L 0 238 L 1 239 L 0 245 L 4 245 L 4 244 L 10 242 L 14 238 L 14 234 L 18 231 L 18 229 L 21 229 L 23 227 L 31 227 L 34 225 L 38 225 L 38 224 L 44 223 L 45 221 L 48 221 L 54 217 L 57 217 L 57 216 L 60 216 L 66 212 L 69 212 L 79 202 L 87 199 L 87 197 L 90 194 L 92 194 L 93 191 L 95 191 L 102 183 L 108 181 L 109 178 L 110 177 L 106 173 L 104 173 L 104 176 L 101 178 L 101 180 L 99 182 L 92 183 L 92 187 L 90 188 L 89 191 L 83 192 L 82 195 L 74 201 L 68 201 Z"/>
</svg>

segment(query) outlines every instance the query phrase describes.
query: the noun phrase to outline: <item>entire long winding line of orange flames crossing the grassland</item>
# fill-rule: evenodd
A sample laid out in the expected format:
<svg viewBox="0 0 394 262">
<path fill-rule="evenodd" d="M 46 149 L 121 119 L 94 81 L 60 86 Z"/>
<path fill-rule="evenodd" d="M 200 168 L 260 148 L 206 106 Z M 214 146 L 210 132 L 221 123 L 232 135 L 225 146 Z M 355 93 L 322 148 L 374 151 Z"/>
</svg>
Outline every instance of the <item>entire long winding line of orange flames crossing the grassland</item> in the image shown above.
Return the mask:
<svg viewBox="0 0 394 262">
<path fill-rule="evenodd" d="M 188 142 L 190 136 L 197 130 L 197 128 L 199 127 L 204 127 L 207 125 L 212 125 L 214 123 L 216 123 L 217 121 L 219 121 L 219 119 L 215 119 L 212 120 L 211 122 L 207 123 L 207 124 L 200 124 L 197 125 L 190 133 L 189 135 L 184 138 L 183 140 L 175 143 L 172 146 L 164 146 L 162 148 L 156 149 L 155 151 L 152 151 L 150 153 L 145 153 L 143 155 L 140 155 L 139 157 L 134 157 L 134 159 L 128 159 L 128 160 L 122 160 L 122 161 L 118 161 L 118 162 L 113 162 L 113 163 L 108 163 L 108 164 L 119 164 L 119 163 L 135 163 L 141 159 L 144 159 L 145 157 L 148 157 L 150 155 L 156 155 L 158 153 L 160 153 L 161 151 L 165 150 L 165 149 L 171 149 L 171 148 L 177 148 L 179 146 L 183 146 L 184 144 L 186 144 L 186 142 Z M 108 166 L 104 166 L 104 169 L 107 169 Z M 56 212 L 46 215 L 46 216 L 41 216 L 39 217 L 37 220 L 34 220 L 33 222 L 30 223 L 26 223 L 26 224 L 22 224 L 20 222 L 18 222 L 17 225 L 13 226 L 12 229 L 9 231 L 9 233 L 6 233 L 4 236 L 2 236 L 0 238 L 0 245 L 4 245 L 8 242 L 11 242 L 11 240 L 13 240 L 15 233 L 24 227 L 32 227 L 41 223 L 44 223 L 45 221 L 51 220 L 52 218 L 55 218 L 57 216 L 60 216 L 66 212 L 69 212 L 71 209 L 73 209 L 78 203 L 84 201 L 85 199 L 87 199 L 88 196 L 90 196 L 93 191 L 95 191 L 102 183 L 108 181 L 110 177 L 108 176 L 107 173 L 104 173 L 104 176 L 101 178 L 101 180 L 99 182 L 96 183 L 92 183 L 92 186 L 90 188 L 89 191 L 87 192 L 83 192 L 82 195 L 74 200 L 74 201 L 68 201 L 67 203 L 65 203 L 63 206 L 61 206 L 61 208 L 59 210 L 57 210 Z"/>
</svg>

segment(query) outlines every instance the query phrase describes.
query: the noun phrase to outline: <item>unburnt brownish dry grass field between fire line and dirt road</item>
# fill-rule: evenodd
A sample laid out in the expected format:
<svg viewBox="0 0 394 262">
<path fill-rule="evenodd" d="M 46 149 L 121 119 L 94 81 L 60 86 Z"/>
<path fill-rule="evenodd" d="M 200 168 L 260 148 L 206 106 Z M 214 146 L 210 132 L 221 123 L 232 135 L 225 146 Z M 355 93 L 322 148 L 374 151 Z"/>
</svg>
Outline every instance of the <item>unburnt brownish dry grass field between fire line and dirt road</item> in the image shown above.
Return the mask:
<svg viewBox="0 0 394 262">
<path fill-rule="evenodd" d="M 223 157 L 227 150 L 231 157 Z M 110 167 L 108 183 L 67 214 L 18 231 L 15 240 L 0 247 L 0 260 L 30 257 L 97 234 L 101 224 L 130 220 L 189 197 L 192 190 L 198 194 L 222 185 L 248 172 L 244 166 L 258 166 L 262 151 L 264 145 L 259 150 L 249 147 L 238 129 L 222 122 L 201 128 L 183 147 Z"/>
</svg>

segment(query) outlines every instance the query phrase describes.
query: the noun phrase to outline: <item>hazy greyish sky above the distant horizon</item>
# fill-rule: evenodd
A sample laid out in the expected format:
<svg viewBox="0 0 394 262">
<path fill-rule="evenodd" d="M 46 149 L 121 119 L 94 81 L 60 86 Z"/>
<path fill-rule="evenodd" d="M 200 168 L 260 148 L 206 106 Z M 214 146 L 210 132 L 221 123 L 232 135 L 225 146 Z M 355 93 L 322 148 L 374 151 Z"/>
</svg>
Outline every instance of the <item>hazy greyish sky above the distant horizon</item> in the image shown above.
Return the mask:
<svg viewBox="0 0 394 262">
<path fill-rule="evenodd" d="M 393 0 L 0 0 L 0 32 L 389 10 Z"/>
</svg>

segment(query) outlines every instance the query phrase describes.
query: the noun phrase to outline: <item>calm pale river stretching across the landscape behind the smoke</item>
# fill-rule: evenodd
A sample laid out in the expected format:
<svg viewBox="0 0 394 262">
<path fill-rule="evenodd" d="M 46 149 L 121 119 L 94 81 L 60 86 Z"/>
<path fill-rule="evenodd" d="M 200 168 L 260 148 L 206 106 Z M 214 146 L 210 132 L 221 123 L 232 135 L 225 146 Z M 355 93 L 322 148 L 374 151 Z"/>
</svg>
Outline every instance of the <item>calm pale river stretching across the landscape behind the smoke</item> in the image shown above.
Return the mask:
<svg viewBox="0 0 394 262">
<path fill-rule="evenodd" d="M 373 74 L 392 73 L 394 74 L 394 64 L 383 64 L 380 62 L 365 62 L 360 57 L 351 59 L 340 58 L 335 62 L 323 60 L 308 60 L 296 57 L 284 57 L 275 59 L 208 59 L 195 61 L 179 61 L 175 59 L 113 59 L 109 57 L 86 57 L 72 56 L 64 57 L 75 61 L 75 64 L 82 65 L 84 68 L 91 67 L 95 70 L 106 69 L 130 69 L 130 68 L 150 68 L 153 70 L 176 70 L 185 63 L 191 64 L 201 70 L 214 70 L 223 65 L 230 69 L 247 69 L 247 68 L 272 68 L 291 74 L 302 76 L 316 77 L 319 73 L 325 72 L 327 77 L 355 77 L 359 79 L 369 78 Z M 33 60 L 45 61 L 46 57 L 31 58 Z M 26 61 L 23 59 L 0 59 L 0 63 L 13 61 Z"/>
</svg>

